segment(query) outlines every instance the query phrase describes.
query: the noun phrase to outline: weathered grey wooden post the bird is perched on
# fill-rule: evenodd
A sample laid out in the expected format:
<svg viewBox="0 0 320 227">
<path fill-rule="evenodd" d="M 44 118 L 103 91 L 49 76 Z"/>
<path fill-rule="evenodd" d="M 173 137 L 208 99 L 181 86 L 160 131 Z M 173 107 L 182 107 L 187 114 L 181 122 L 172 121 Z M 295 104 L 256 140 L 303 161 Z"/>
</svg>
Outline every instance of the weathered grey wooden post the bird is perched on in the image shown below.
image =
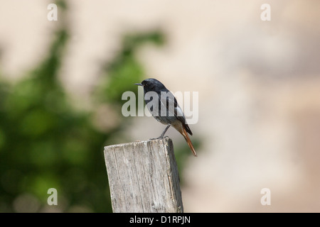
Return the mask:
<svg viewBox="0 0 320 227">
<path fill-rule="evenodd" d="M 170 138 L 105 147 L 113 212 L 183 212 Z"/>
</svg>

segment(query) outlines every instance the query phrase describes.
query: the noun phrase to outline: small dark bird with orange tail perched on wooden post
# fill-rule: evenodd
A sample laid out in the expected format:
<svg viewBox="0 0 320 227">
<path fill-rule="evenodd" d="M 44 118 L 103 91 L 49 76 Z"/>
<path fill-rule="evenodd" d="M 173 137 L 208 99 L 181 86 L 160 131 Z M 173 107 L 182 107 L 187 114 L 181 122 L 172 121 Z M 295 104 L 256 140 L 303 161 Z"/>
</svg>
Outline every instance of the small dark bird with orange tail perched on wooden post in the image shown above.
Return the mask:
<svg viewBox="0 0 320 227">
<path fill-rule="evenodd" d="M 186 139 L 193 155 L 197 156 L 196 150 L 194 150 L 188 136 L 188 133 L 192 135 L 191 129 L 186 123 L 186 117 L 174 95 L 157 79 L 144 79 L 141 84 L 136 85 L 144 87 L 144 101 L 151 115 L 154 116 L 157 121 L 168 125 L 159 138 L 164 138 L 164 134 L 168 128 L 173 126 Z M 150 105 L 150 101 L 152 101 L 152 105 Z"/>
</svg>

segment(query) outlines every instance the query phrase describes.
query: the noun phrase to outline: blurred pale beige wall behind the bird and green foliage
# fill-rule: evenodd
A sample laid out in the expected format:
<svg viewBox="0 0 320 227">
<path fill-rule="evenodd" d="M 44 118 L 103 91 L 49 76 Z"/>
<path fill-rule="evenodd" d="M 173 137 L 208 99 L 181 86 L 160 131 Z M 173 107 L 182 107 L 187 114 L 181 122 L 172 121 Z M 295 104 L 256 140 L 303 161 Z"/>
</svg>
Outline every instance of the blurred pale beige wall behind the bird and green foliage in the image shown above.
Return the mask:
<svg viewBox="0 0 320 227">
<path fill-rule="evenodd" d="M 1 1 L 1 70 L 11 79 L 46 53 L 59 25 L 46 18 L 49 3 Z M 260 19 L 263 3 L 271 21 Z M 203 146 L 181 173 L 185 211 L 320 211 L 319 1 L 68 4 L 71 39 L 60 77 L 79 99 L 87 98 L 122 33 L 166 33 L 164 48 L 146 46 L 139 57 L 146 77 L 172 91 L 199 92 L 199 121 L 191 129 Z M 163 129 L 152 118 L 132 121 L 133 140 Z M 262 188 L 271 191 L 270 206 L 260 203 Z"/>
</svg>

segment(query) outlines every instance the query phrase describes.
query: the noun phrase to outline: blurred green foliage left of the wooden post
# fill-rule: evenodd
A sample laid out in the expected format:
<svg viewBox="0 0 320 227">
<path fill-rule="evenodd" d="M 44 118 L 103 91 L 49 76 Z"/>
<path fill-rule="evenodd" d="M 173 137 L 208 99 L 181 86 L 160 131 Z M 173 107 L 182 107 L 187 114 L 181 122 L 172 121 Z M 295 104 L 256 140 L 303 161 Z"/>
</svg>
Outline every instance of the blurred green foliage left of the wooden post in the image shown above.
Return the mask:
<svg viewBox="0 0 320 227">
<path fill-rule="evenodd" d="M 73 108 L 58 79 L 68 40 L 68 29 L 58 29 L 47 57 L 15 84 L 0 72 L 0 212 L 112 211 L 103 147 L 127 118 L 120 111 L 121 121 L 102 131 L 92 117 L 101 105 L 121 106 L 122 93 L 144 76 L 137 50 L 164 39 L 159 32 L 124 35 L 122 48 L 102 66 L 89 111 Z M 47 204 L 52 187 L 56 208 Z"/>
</svg>

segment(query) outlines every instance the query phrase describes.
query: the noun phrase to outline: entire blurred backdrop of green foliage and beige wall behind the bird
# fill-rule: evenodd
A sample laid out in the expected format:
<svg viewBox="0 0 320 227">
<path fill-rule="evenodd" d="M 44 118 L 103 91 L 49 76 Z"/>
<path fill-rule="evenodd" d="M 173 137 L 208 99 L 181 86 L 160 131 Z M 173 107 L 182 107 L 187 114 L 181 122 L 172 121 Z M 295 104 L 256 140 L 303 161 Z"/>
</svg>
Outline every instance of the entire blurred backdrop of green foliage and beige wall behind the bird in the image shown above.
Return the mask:
<svg viewBox="0 0 320 227">
<path fill-rule="evenodd" d="M 111 212 L 103 147 L 164 129 L 121 114 L 147 77 L 199 92 L 186 212 L 320 212 L 319 1 L 50 3 L 0 3 L 0 212 Z"/>
</svg>

